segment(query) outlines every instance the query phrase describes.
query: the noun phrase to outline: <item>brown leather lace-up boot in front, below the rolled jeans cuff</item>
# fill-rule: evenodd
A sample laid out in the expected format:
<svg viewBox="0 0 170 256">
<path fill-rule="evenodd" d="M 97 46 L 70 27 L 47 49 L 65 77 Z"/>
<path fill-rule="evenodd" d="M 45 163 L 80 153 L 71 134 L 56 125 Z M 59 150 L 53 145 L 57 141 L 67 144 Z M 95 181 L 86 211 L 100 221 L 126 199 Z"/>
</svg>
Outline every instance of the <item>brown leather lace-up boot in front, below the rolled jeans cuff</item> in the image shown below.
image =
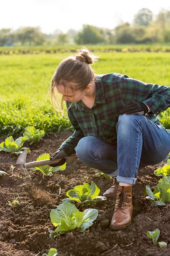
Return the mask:
<svg viewBox="0 0 170 256">
<path fill-rule="evenodd" d="M 110 229 L 125 229 L 132 218 L 132 185 L 118 186 L 116 191 L 115 211 L 110 222 Z"/>
</svg>

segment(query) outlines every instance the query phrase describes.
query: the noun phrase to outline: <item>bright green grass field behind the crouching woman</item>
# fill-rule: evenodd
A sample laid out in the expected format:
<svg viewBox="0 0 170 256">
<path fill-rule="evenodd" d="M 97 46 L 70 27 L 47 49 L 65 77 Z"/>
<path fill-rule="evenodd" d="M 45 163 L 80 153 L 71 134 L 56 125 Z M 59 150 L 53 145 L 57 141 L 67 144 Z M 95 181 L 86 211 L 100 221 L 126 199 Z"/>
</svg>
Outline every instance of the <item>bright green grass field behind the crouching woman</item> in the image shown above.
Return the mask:
<svg viewBox="0 0 170 256">
<path fill-rule="evenodd" d="M 71 49 L 70 49 L 71 51 Z M 22 135 L 34 125 L 46 133 L 71 128 L 67 116 L 59 119 L 49 101 L 51 77 L 69 54 L 0 55 L 0 135 Z M 99 52 L 96 74 L 117 72 L 146 83 L 170 86 L 170 52 Z M 169 110 L 162 123 L 170 129 Z M 161 116 L 162 118 L 162 116 Z"/>
</svg>

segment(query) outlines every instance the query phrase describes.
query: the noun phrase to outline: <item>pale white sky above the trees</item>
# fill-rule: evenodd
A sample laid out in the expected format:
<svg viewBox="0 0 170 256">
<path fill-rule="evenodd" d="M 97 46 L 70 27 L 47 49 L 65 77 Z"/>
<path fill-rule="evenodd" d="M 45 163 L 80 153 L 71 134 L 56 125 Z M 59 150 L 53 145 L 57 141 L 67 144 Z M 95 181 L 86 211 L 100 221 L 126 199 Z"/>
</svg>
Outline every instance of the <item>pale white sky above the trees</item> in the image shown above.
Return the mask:
<svg viewBox="0 0 170 256">
<path fill-rule="evenodd" d="M 143 8 L 154 18 L 170 11 L 170 0 L 1 0 L 0 29 L 40 27 L 45 34 L 81 31 L 83 25 L 114 29 L 121 22 L 132 23 Z"/>
</svg>

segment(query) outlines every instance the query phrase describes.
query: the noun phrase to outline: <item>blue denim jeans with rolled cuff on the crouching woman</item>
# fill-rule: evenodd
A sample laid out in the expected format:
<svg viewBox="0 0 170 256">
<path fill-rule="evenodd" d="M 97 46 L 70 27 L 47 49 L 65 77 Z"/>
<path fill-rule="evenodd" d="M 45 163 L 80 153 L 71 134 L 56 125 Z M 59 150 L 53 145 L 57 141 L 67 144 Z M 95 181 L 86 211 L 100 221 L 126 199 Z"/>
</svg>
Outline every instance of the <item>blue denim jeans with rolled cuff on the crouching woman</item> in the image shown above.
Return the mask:
<svg viewBox="0 0 170 256">
<path fill-rule="evenodd" d="M 137 172 L 163 161 L 170 152 L 170 133 L 144 116 L 119 115 L 117 145 L 98 137 L 83 137 L 75 147 L 81 162 L 118 182 L 135 184 Z"/>
</svg>

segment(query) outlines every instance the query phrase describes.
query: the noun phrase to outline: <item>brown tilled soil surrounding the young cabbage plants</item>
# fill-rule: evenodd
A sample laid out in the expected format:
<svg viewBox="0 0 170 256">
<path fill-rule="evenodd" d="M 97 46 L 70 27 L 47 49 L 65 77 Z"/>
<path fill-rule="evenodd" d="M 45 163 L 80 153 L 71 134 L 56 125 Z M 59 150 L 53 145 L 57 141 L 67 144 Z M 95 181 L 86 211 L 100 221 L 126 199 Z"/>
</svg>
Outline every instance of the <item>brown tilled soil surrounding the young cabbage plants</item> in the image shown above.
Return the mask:
<svg viewBox="0 0 170 256">
<path fill-rule="evenodd" d="M 71 132 L 63 132 L 57 138 L 46 136 L 27 154 L 26 162 L 32 162 L 43 153 L 53 153 Z M 0 143 L 5 137 L 0 137 Z M 59 256 L 170 256 L 170 206 L 151 207 L 143 190 L 147 184 L 151 189 L 157 185 L 159 177 L 154 171 L 163 166 L 147 166 L 138 173 L 133 186 L 133 215 L 131 225 L 123 230 L 109 229 L 113 215 L 115 198 L 91 205 L 99 211 L 93 226 L 87 232 L 68 232 L 55 239 L 49 238 L 49 230 L 55 229 L 50 220 L 51 209 L 57 208 L 66 198 L 68 189 L 91 180 L 100 189 L 100 195 L 110 187 L 110 180 L 97 177 L 98 170 L 84 166 L 79 160 L 67 162 L 66 170 L 43 176 L 40 171 L 29 169 L 31 179 L 21 177 L 16 166 L 17 156 L 0 152 L 0 170 L 7 175 L 0 176 L 0 256 L 41 256 L 51 247 Z M 13 166 L 14 168 L 11 168 Z M 12 171 L 13 170 L 13 171 Z M 19 199 L 16 207 L 9 207 L 8 201 Z M 82 209 L 84 210 L 84 209 Z M 164 241 L 168 247 L 154 246 L 147 231 L 160 230 L 158 242 Z"/>
</svg>

